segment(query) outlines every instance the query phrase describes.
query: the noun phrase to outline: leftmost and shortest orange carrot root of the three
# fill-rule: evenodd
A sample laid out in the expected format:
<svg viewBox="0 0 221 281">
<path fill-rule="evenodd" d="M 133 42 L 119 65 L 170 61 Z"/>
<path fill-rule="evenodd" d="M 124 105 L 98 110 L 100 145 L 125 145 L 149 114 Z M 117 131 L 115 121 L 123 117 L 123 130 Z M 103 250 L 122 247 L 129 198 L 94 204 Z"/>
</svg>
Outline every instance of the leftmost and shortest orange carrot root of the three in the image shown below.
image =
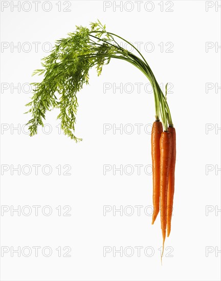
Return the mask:
<svg viewBox="0 0 221 281">
<path fill-rule="evenodd" d="M 153 178 L 153 215 L 152 224 L 157 218 L 160 210 L 160 137 L 163 126 L 160 121 L 153 122 L 151 132 L 151 156 L 152 156 L 152 178 Z"/>
</svg>

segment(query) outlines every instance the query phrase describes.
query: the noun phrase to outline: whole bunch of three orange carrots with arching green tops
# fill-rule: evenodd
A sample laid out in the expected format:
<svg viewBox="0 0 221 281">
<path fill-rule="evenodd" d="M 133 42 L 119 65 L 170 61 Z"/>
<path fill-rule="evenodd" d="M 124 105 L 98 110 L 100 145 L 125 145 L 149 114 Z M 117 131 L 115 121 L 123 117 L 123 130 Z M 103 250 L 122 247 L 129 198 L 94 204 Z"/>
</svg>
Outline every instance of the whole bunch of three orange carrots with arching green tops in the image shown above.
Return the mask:
<svg viewBox="0 0 221 281">
<path fill-rule="evenodd" d="M 130 45 L 133 51 L 122 48 L 120 42 L 118 43 L 119 39 Z M 152 224 L 161 209 L 164 248 L 166 229 L 167 236 L 171 229 L 176 156 L 175 129 L 166 95 L 164 96 L 144 56 L 132 43 L 106 31 L 105 25 L 99 20 L 91 23 L 91 29 L 79 26 L 75 32 L 69 33 L 67 38 L 57 40 L 51 54 L 43 58 L 43 68 L 33 73 L 44 77 L 40 83 L 32 83 L 33 96 L 31 102 L 27 104 L 30 109 L 26 112 L 32 115 L 27 123 L 30 135 L 37 133 L 39 125 L 43 126 L 46 112 L 57 108 L 60 110 L 58 119 L 64 134 L 76 142 L 80 141 L 81 138 L 74 134 L 78 107 L 77 93 L 84 84 L 89 83 L 90 69 L 96 67 L 99 76 L 103 65 L 108 64 L 112 58 L 127 61 L 137 67 L 153 88 L 156 122 L 153 123 L 151 135 L 154 208 Z"/>
</svg>

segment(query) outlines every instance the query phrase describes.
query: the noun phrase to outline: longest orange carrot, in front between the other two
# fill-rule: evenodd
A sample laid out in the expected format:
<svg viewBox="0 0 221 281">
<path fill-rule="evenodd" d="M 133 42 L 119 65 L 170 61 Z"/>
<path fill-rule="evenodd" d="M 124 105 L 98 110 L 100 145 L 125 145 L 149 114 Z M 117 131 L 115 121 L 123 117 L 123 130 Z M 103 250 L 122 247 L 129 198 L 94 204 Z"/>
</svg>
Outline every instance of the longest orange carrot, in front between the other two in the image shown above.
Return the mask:
<svg viewBox="0 0 221 281">
<path fill-rule="evenodd" d="M 161 204 L 161 229 L 163 235 L 163 251 L 166 238 L 167 224 L 167 189 L 169 179 L 169 168 L 172 156 L 172 135 L 164 131 L 160 138 L 160 204 Z M 163 256 L 163 251 L 162 255 Z"/>
</svg>

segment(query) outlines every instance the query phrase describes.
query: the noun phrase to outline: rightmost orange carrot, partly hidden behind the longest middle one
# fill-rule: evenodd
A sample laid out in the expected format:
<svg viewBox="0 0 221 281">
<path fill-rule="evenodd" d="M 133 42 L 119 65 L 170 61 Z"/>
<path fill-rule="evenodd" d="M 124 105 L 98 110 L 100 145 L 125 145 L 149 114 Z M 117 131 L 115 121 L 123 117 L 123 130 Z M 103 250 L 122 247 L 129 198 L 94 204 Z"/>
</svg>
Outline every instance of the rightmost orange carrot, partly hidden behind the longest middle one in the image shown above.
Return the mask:
<svg viewBox="0 0 221 281">
<path fill-rule="evenodd" d="M 174 181 L 175 181 L 175 159 L 176 159 L 176 135 L 175 128 L 168 127 L 168 131 L 172 135 L 172 156 L 170 163 L 170 172 L 168 180 L 168 191 L 167 191 L 167 237 L 170 235 L 171 230 L 171 219 L 173 209 L 173 194 L 174 194 Z"/>
</svg>

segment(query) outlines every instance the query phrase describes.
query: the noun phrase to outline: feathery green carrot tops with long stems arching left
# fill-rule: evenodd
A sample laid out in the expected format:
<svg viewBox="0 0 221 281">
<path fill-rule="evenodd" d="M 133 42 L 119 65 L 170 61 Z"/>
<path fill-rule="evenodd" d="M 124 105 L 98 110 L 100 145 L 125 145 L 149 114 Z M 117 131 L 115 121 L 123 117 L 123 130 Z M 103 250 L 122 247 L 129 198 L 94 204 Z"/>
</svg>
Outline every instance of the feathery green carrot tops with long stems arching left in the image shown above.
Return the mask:
<svg viewBox="0 0 221 281">
<path fill-rule="evenodd" d="M 118 39 L 130 44 L 137 54 L 122 48 L 117 42 Z M 34 71 L 33 75 L 43 75 L 43 80 L 32 83 L 33 97 L 27 104 L 30 109 L 26 113 L 32 115 L 27 123 L 30 135 L 37 133 L 38 125 L 43 126 L 48 110 L 59 108 L 57 118 L 60 120 L 61 129 L 76 142 L 81 140 L 74 134 L 78 108 L 77 92 L 84 84 L 89 83 L 89 71 L 92 67 L 96 67 L 99 76 L 103 65 L 108 64 L 112 58 L 131 63 L 149 79 L 154 93 L 156 120 L 159 120 L 161 112 L 166 129 L 169 108 L 145 58 L 130 42 L 107 32 L 105 25 L 98 20 L 91 24 L 91 29 L 76 27 L 76 32 L 57 40 L 51 54 L 42 59 L 43 68 Z"/>
</svg>

